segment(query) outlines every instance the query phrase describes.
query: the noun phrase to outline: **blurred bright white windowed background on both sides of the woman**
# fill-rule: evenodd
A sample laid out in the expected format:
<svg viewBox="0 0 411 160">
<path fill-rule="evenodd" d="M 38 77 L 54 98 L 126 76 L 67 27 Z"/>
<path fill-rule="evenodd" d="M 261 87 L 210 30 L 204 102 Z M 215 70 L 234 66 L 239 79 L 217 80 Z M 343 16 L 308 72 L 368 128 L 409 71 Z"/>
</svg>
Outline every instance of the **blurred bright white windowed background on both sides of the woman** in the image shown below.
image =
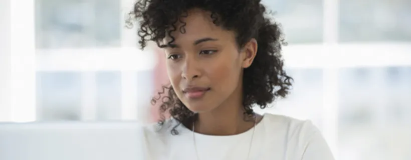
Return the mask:
<svg viewBox="0 0 411 160">
<path fill-rule="evenodd" d="M 161 50 L 124 27 L 133 0 L 24 1 L 0 2 L 0 121 L 155 121 L 168 79 Z M 312 119 L 339 160 L 411 159 L 411 0 L 263 2 L 295 83 L 257 110 Z"/>
</svg>

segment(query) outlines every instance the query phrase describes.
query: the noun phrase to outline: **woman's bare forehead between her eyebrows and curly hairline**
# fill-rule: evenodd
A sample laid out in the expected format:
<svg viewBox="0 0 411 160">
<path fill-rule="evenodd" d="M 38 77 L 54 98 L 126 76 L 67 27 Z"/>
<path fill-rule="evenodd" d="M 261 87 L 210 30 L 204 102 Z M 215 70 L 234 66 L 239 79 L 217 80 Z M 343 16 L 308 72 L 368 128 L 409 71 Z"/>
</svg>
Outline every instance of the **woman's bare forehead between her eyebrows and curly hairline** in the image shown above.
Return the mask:
<svg viewBox="0 0 411 160">
<path fill-rule="evenodd" d="M 191 9 L 186 17 L 181 17 L 180 19 L 183 23 L 177 22 L 175 25 L 176 30 L 171 32 L 171 35 L 175 38 L 175 43 L 192 42 L 204 37 L 226 40 L 234 37 L 232 31 L 225 30 L 213 23 L 211 12 Z M 181 33 L 180 30 L 182 29 L 180 27 L 183 27 L 185 32 Z M 164 40 L 168 42 L 170 37 L 166 37 Z"/>
</svg>

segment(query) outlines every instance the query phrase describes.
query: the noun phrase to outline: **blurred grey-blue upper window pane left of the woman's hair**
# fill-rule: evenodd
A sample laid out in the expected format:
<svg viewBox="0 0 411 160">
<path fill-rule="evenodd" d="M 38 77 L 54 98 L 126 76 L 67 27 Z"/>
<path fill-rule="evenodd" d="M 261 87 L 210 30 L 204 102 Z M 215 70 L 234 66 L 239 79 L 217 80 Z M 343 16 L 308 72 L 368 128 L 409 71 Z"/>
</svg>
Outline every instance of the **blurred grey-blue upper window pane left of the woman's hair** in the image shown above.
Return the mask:
<svg viewBox="0 0 411 160">
<path fill-rule="evenodd" d="M 120 0 L 36 0 L 37 48 L 121 44 Z"/>
</svg>

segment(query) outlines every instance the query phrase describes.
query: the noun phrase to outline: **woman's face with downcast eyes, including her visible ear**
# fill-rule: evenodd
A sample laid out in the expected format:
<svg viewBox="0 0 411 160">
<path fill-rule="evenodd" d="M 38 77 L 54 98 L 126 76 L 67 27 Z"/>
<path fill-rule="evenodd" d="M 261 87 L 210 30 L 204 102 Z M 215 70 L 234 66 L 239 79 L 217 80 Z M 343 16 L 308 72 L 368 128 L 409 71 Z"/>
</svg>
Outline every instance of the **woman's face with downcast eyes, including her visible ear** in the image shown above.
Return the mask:
<svg viewBox="0 0 411 160">
<path fill-rule="evenodd" d="M 185 32 L 177 24 L 175 46 L 165 48 L 168 77 L 178 98 L 194 112 L 241 101 L 242 70 L 254 55 L 249 49 L 240 51 L 234 32 L 216 26 L 206 11 L 190 10 L 182 21 Z"/>
</svg>

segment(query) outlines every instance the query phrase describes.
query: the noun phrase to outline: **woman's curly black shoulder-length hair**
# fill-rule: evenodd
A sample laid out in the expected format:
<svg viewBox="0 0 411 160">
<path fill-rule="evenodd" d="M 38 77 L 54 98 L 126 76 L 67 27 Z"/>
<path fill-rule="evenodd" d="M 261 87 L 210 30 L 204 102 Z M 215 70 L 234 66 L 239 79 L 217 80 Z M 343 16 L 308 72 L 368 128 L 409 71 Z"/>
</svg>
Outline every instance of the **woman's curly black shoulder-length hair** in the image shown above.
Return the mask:
<svg viewBox="0 0 411 160">
<path fill-rule="evenodd" d="M 258 42 L 256 57 L 243 74 L 243 106 L 246 114 L 253 113 L 253 105 L 262 109 L 277 97 L 285 97 L 292 86 L 292 77 L 283 68 L 281 55 L 285 45 L 279 23 L 269 18 L 271 12 L 261 0 L 139 0 L 130 13 L 133 20 L 140 24 L 139 44 L 143 49 L 148 41 L 154 41 L 159 47 L 170 46 L 174 42 L 171 32 L 185 32 L 184 26 L 176 27 L 177 22 L 185 24 L 181 17 L 186 17 L 188 10 L 199 8 L 211 12 L 213 22 L 223 29 L 236 33 L 236 42 L 242 48 L 251 38 Z M 160 44 L 166 36 L 171 40 Z M 168 91 L 168 95 L 164 95 Z M 195 114 L 176 96 L 171 85 L 164 85 L 158 97 L 152 98 L 152 104 L 161 102 L 160 111 L 168 111 L 181 123 L 195 120 Z M 164 115 L 160 124 L 164 123 Z M 175 127 L 172 134 L 178 134 Z"/>
</svg>

